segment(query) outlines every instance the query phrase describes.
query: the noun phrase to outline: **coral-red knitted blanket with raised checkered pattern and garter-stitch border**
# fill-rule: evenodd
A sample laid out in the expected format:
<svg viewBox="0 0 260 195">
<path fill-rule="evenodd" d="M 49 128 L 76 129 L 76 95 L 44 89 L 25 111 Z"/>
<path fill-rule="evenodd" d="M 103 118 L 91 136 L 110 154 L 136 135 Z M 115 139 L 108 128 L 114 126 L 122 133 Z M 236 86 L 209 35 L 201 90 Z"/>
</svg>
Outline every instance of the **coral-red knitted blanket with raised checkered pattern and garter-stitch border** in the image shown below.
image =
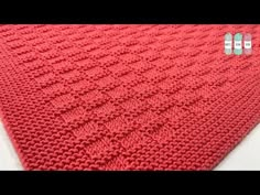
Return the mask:
<svg viewBox="0 0 260 195">
<path fill-rule="evenodd" d="M 225 34 L 250 33 L 251 55 Z M 1 25 L 25 170 L 212 170 L 259 122 L 260 25 Z"/>
</svg>

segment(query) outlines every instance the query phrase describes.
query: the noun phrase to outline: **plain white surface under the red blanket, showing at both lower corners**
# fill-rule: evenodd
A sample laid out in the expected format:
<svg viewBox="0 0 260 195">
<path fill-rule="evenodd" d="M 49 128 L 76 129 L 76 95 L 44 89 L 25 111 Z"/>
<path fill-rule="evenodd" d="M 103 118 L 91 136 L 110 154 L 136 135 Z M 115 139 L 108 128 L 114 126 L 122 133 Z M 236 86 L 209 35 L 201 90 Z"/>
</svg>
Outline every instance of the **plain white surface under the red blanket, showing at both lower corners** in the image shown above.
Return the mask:
<svg viewBox="0 0 260 195">
<path fill-rule="evenodd" d="M 1 122 L 0 170 L 23 170 Z M 260 124 L 258 124 L 215 170 L 260 170 Z"/>
</svg>

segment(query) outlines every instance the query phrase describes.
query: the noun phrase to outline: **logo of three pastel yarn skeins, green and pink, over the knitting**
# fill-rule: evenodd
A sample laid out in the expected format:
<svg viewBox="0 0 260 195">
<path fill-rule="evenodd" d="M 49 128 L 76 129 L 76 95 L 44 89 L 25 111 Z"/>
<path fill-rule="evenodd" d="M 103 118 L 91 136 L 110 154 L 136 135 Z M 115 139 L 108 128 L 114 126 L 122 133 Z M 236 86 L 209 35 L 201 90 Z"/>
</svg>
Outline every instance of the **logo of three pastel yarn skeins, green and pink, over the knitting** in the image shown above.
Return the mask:
<svg viewBox="0 0 260 195">
<path fill-rule="evenodd" d="M 243 37 L 243 52 L 246 55 L 252 53 L 252 36 L 251 34 L 245 34 Z M 225 34 L 225 54 L 232 54 L 232 35 L 230 33 Z M 234 36 L 234 54 L 242 54 L 242 34 L 237 33 Z"/>
</svg>

